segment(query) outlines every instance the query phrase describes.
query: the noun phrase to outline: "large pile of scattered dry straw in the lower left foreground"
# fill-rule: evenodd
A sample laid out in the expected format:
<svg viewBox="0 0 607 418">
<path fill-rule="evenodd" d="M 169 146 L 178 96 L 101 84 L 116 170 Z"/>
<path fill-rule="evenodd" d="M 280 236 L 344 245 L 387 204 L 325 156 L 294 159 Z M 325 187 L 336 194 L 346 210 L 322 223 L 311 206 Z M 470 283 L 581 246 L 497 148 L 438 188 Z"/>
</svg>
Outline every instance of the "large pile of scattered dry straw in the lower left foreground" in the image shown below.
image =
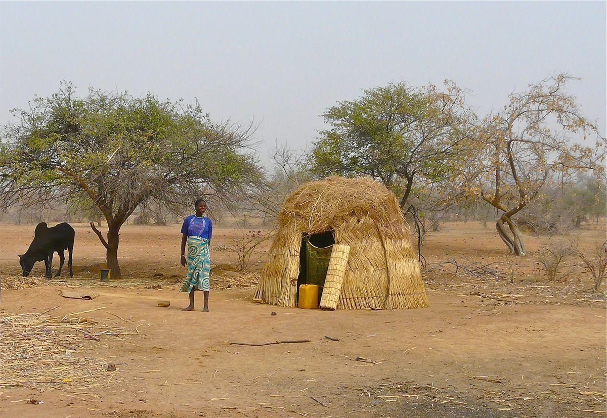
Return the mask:
<svg viewBox="0 0 607 418">
<path fill-rule="evenodd" d="M 0 317 L 0 388 L 83 389 L 118 382 L 107 363 L 79 355 L 86 340 L 137 332 L 92 320 L 12 314 Z"/>
</svg>

